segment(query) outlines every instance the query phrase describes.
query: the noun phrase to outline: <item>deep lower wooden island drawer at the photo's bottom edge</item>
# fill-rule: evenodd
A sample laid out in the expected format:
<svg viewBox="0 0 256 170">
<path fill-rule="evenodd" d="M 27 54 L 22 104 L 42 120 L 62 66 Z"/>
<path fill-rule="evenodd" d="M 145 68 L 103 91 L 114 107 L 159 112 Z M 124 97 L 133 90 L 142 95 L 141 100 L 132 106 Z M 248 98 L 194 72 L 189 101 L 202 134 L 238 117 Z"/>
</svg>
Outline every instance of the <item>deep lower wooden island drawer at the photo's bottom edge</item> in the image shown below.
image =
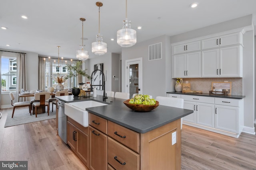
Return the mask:
<svg viewBox="0 0 256 170">
<path fill-rule="evenodd" d="M 139 170 L 140 155 L 108 137 L 108 163 L 116 170 Z"/>
</svg>

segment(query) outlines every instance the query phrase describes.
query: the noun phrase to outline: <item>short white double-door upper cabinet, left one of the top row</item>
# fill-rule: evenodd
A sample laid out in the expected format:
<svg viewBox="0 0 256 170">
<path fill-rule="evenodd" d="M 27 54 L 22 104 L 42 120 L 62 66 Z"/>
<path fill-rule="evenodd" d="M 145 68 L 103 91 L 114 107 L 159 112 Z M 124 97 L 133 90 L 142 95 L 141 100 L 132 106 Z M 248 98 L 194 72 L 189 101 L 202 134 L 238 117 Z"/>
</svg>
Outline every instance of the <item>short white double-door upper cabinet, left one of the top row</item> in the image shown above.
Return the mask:
<svg viewBox="0 0 256 170">
<path fill-rule="evenodd" d="M 193 41 L 172 46 L 172 54 L 188 53 L 201 50 L 201 41 Z"/>
</svg>

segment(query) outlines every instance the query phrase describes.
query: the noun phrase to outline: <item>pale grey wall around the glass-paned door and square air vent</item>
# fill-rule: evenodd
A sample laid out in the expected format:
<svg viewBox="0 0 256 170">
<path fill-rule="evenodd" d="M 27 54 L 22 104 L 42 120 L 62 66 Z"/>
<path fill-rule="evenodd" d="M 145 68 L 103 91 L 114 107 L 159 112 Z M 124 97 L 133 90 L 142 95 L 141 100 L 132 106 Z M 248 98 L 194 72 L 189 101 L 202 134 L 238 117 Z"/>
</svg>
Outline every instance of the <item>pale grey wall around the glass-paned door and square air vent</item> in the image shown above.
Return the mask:
<svg viewBox="0 0 256 170">
<path fill-rule="evenodd" d="M 167 35 L 162 35 L 148 41 L 137 43 L 129 48 L 122 48 L 122 92 L 125 92 L 125 61 L 128 59 L 136 59 L 142 57 L 142 91 L 143 94 L 152 95 L 153 98 L 156 96 L 166 96 L 166 87 L 170 84 L 170 79 L 167 74 L 170 74 L 170 49 L 166 50 L 166 47 L 170 43 L 166 43 L 169 39 Z M 162 59 L 148 61 L 148 45 L 156 44 L 162 42 Z M 168 51 L 168 53 L 166 53 Z M 166 66 L 167 65 L 167 66 Z M 166 73 L 166 69 L 168 73 Z M 171 74 L 170 74 L 171 75 Z M 171 77 L 170 77 L 171 78 Z M 168 81 L 168 83 L 166 83 Z"/>
</svg>

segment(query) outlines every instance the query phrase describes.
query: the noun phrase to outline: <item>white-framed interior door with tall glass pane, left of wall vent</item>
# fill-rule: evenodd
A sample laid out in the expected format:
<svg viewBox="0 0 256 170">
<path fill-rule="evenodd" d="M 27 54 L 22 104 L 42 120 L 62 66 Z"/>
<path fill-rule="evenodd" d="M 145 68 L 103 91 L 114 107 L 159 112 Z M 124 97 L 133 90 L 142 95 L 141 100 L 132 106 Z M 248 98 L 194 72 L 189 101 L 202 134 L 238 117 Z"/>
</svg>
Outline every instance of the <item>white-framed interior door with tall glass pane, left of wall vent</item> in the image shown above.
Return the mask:
<svg viewBox="0 0 256 170">
<path fill-rule="evenodd" d="M 126 61 L 126 93 L 142 94 L 142 58 Z"/>
</svg>

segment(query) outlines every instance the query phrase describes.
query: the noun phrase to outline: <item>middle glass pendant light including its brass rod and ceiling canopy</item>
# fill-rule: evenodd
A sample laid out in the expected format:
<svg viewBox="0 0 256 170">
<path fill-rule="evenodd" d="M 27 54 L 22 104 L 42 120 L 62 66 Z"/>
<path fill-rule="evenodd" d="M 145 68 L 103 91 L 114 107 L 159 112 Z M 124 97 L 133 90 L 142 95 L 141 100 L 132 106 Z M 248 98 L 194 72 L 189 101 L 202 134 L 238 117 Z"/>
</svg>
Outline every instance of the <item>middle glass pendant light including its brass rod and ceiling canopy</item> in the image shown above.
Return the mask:
<svg viewBox="0 0 256 170">
<path fill-rule="evenodd" d="M 96 42 L 92 43 L 92 53 L 96 55 L 104 55 L 107 52 L 107 43 L 103 42 L 102 34 L 100 33 L 100 7 L 103 6 L 102 2 L 96 2 L 99 7 L 99 32 L 96 35 Z"/>
</svg>

